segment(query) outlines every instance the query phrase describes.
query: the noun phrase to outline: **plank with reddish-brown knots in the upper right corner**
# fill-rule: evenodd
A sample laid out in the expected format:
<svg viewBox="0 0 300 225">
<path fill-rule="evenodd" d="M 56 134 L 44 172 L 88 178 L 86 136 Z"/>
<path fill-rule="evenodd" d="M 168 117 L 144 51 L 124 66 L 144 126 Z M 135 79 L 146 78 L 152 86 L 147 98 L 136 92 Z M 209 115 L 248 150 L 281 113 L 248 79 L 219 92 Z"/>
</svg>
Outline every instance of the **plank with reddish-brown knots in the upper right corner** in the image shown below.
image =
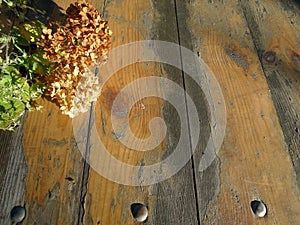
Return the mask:
<svg viewBox="0 0 300 225">
<path fill-rule="evenodd" d="M 295 1 L 242 3 L 300 185 L 299 5 Z"/>
</svg>

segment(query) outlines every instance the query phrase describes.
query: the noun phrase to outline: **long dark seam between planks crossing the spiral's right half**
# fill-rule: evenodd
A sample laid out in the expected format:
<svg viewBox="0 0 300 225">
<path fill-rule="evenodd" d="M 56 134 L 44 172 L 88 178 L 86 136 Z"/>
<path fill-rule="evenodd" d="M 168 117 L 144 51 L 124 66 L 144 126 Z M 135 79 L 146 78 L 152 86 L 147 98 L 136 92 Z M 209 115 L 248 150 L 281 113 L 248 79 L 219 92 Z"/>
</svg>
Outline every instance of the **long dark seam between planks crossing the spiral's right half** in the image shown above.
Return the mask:
<svg viewBox="0 0 300 225">
<path fill-rule="evenodd" d="M 187 106 L 187 93 L 186 93 L 186 84 L 185 84 L 185 78 L 184 78 L 184 72 L 183 72 L 183 59 L 182 59 L 182 52 L 181 52 L 181 41 L 180 41 L 180 28 L 179 28 L 179 21 L 178 21 L 178 11 L 177 11 L 177 3 L 176 0 L 174 0 L 174 9 L 175 9 L 175 19 L 176 19 L 176 27 L 177 27 L 177 38 L 178 38 L 178 44 L 179 44 L 179 57 L 180 57 L 180 67 L 181 67 L 181 75 L 182 75 L 182 85 L 184 89 L 184 102 L 185 102 L 185 109 L 187 113 L 187 123 L 188 123 L 188 136 L 189 136 L 189 149 L 191 151 L 192 157 L 192 174 L 193 174 L 193 187 L 194 187 L 194 195 L 195 195 L 195 204 L 196 204 L 196 211 L 197 211 L 197 221 L 198 225 L 200 225 L 200 208 L 199 208 L 199 198 L 197 194 L 197 183 L 196 183 L 196 174 L 195 174 L 195 162 L 194 162 L 194 156 L 193 156 L 193 146 L 192 146 L 192 138 L 191 138 L 191 127 L 190 127 L 190 116 L 189 116 L 189 110 Z"/>
</svg>

